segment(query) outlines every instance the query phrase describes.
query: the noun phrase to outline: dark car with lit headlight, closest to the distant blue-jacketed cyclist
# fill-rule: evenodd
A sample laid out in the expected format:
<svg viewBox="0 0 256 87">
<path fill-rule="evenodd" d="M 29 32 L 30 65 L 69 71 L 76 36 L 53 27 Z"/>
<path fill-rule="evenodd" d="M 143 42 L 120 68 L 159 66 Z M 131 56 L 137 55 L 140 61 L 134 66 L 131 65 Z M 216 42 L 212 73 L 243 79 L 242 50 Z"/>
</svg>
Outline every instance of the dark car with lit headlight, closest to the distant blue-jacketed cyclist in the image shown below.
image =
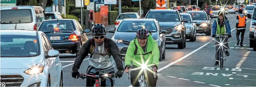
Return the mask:
<svg viewBox="0 0 256 87">
<path fill-rule="evenodd" d="M 205 33 L 206 36 L 211 35 L 212 31 L 212 24 L 211 24 L 211 18 L 208 18 L 208 15 L 205 11 L 188 11 L 192 16 L 192 19 L 197 21 L 197 33 Z"/>
</svg>

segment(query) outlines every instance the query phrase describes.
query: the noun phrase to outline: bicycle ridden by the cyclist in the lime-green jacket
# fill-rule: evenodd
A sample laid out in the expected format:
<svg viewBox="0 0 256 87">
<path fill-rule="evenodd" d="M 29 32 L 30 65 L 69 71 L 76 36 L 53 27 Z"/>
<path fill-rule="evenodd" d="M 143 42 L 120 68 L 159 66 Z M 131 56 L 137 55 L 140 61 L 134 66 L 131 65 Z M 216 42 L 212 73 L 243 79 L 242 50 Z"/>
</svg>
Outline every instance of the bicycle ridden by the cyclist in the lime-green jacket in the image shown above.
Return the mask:
<svg viewBox="0 0 256 87">
<path fill-rule="evenodd" d="M 152 67 L 153 68 L 153 71 L 154 71 L 154 67 Z M 131 77 L 131 71 L 132 70 L 138 70 L 138 69 L 131 69 L 131 70 L 129 70 L 128 69 L 128 73 L 127 73 L 127 77 L 128 77 L 128 79 L 130 79 L 130 77 Z M 156 78 L 156 72 L 154 71 L 154 78 Z M 141 76 L 139 77 L 139 83 L 140 83 L 140 87 L 148 87 L 148 81 L 147 81 L 147 79 L 146 79 L 146 76 L 145 76 L 145 73 L 144 72 L 142 72 L 141 73 Z"/>
</svg>

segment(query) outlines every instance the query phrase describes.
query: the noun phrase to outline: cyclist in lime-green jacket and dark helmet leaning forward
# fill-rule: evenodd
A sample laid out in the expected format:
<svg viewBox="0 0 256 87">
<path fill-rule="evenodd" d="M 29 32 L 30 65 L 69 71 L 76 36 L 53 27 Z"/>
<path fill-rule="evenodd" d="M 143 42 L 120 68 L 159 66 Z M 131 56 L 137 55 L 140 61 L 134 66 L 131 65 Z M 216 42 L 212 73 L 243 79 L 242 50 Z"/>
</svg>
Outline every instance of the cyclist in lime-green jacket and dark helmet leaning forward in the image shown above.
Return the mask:
<svg viewBox="0 0 256 87">
<path fill-rule="evenodd" d="M 125 72 L 128 73 L 128 70 L 141 67 L 140 64 L 146 63 L 149 61 L 147 65 L 148 68 L 154 67 L 154 71 L 157 72 L 159 65 L 159 48 L 156 40 L 153 39 L 152 35 L 145 28 L 141 28 L 136 32 L 136 39 L 132 40 L 129 44 L 125 55 Z M 144 61 L 144 62 L 143 62 Z M 133 62 L 133 66 L 131 64 Z M 139 87 L 139 76 L 141 75 L 141 69 L 131 71 L 131 84 L 133 87 Z M 156 87 L 158 77 L 154 78 L 153 71 L 147 70 L 147 81 L 149 87 Z"/>
</svg>

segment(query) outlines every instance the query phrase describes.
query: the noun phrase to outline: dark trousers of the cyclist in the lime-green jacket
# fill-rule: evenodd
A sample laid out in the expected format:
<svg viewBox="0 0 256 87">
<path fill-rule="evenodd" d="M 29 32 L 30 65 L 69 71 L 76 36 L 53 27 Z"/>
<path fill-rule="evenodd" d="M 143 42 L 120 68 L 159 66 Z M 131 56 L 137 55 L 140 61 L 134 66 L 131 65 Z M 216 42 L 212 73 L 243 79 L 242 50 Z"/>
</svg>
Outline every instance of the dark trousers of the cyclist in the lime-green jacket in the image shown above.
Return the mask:
<svg viewBox="0 0 256 87">
<path fill-rule="evenodd" d="M 137 68 L 137 67 L 138 66 L 133 65 L 132 68 Z M 131 84 L 133 85 L 133 87 L 140 87 L 140 83 L 138 81 L 139 77 L 141 76 L 141 74 L 139 74 L 140 71 L 141 69 L 131 71 Z M 157 79 L 158 79 L 157 74 L 156 74 L 156 78 L 154 78 L 154 74 L 148 70 L 147 70 L 147 74 L 148 74 L 147 76 L 148 87 L 156 87 Z"/>
</svg>

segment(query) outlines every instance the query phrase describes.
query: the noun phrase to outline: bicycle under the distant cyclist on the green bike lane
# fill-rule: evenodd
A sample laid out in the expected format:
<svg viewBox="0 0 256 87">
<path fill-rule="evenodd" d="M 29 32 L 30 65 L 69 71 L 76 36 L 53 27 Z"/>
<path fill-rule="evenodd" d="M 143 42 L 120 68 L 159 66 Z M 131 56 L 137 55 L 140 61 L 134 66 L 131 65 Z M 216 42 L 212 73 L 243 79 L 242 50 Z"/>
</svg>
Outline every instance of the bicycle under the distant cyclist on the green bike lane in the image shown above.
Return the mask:
<svg viewBox="0 0 256 87">
<path fill-rule="evenodd" d="M 223 68 L 223 64 L 224 64 L 224 61 L 226 60 L 226 52 L 225 52 L 225 48 L 223 48 L 224 44 L 226 43 L 223 43 L 223 37 L 227 37 L 229 38 L 228 36 L 226 35 L 217 35 L 215 38 L 219 37 L 220 38 L 220 47 L 219 47 L 219 65 L 220 65 L 220 68 Z M 224 38 L 224 39 L 225 39 Z"/>
</svg>

